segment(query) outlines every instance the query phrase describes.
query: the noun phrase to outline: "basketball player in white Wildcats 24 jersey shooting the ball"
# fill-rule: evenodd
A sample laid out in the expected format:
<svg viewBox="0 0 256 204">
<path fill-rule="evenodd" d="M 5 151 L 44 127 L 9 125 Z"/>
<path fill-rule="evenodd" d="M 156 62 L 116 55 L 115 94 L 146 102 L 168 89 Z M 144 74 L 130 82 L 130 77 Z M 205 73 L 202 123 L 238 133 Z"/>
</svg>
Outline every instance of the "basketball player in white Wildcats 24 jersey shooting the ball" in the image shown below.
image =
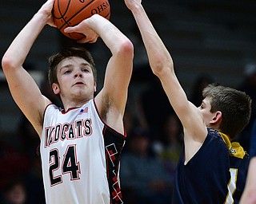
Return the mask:
<svg viewBox="0 0 256 204">
<path fill-rule="evenodd" d="M 126 133 L 122 118 L 132 73 L 134 48 L 113 24 L 95 14 L 66 32 L 83 33 L 81 41 L 99 37 L 112 56 L 102 90 L 96 91 L 94 61 L 73 48 L 50 58 L 50 83 L 63 109 L 42 96 L 23 69 L 34 41 L 48 24 L 54 26 L 48 0 L 18 33 L 2 58 L 10 92 L 41 138 L 40 153 L 47 203 L 122 203 L 119 157 Z"/>
</svg>

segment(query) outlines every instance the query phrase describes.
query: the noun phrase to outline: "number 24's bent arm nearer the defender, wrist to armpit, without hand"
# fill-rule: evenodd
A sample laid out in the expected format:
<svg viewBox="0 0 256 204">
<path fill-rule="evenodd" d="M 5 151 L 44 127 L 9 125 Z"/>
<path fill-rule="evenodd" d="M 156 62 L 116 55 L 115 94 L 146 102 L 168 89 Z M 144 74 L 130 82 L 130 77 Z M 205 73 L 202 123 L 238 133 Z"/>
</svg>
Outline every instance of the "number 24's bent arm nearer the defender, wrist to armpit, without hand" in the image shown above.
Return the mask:
<svg viewBox="0 0 256 204">
<path fill-rule="evenodd" d="M 108 25 L 107 25 L 108 24 Z M 98 34 L 102 37 L 112 56 L 106 66 L 102 95 L 109 97 L 112 108 L 117 108 L 123 116 L 128 86 L 133 69 L 134 47 L 131 41 L 114 25 L 106 24 Z"/>
</svg>

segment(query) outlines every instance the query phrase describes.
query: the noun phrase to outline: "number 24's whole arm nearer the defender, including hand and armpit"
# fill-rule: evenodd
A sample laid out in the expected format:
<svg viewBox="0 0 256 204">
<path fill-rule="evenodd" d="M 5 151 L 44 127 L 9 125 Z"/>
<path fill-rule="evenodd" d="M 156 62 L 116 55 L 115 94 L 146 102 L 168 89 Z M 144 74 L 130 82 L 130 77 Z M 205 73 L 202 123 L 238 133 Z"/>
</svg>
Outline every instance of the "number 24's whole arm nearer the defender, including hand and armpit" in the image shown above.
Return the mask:
<svg viewBox="0 0 256 204">
<path fill-rule="evenodd" d="M 95 97 L 95 101 L 99 112 L 105 113 L 102 116 L 103 120 L 112 128 L 123 131 L 121 119 L 126 106 L 134 57 L 131 41 L 111 22 L 98 14 L 65 31 L 83 33 L 86 37 L 80 42 L 94 42 L 99 36 L 110 49 L 112 56 L 106 66 L 103 88 Z"/>
</svg>

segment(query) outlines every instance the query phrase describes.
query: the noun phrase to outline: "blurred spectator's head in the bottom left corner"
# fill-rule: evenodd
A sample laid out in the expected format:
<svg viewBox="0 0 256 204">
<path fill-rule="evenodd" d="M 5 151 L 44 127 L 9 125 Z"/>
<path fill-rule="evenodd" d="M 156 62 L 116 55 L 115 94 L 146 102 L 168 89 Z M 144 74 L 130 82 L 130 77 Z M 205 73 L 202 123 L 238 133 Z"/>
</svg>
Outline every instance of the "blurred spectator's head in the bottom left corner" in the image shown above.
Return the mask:
<svg viewBox="0 0 256 204">
<path fill-rule="evenodd" d="M 26 204 L 26 185 L 21 179 L 13 179 L 7 183 L 3 204 Z"/>
</svg>

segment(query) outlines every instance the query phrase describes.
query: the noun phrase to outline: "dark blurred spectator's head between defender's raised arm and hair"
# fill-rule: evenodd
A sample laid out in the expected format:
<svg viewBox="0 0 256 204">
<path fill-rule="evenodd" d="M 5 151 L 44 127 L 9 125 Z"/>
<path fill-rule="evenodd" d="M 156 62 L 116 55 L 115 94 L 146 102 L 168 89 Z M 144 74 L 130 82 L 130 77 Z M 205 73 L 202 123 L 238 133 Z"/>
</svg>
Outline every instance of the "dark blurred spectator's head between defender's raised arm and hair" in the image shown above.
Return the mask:
<svg viewBox="0 0 256 204">
<path fill-rule="evenodd" d="M 202 104 L 202 89 L 206 88 L 208 84 L 213 83 L 214 80 L 208 75 L 199 75 L 194 81 L 192 86 L 190 102 L 196 107 L 199 107 Z"/>
</svg>

